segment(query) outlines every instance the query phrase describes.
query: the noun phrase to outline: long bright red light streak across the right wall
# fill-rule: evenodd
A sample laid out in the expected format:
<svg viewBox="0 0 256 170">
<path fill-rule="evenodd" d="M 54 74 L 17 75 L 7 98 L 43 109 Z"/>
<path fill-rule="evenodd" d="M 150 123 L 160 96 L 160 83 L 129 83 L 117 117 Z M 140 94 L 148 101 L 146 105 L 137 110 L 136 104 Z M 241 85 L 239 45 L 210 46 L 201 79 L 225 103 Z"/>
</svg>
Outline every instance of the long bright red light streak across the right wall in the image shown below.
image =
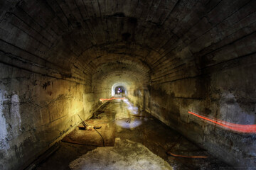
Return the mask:
<svg viewBox="0 0 256 170">
<path fill-rule="evenodd" d="M 191 111 L 188 111 L 188 113 L 190 113 L 191 115 L 196 115 L 196 117 L 201 118 L 203 120 L 207 120 L 210 123 L 220 125 L 220 127 L 228 128 L 230 130 L 234 130 L 237 132 L 247 132 L 247 133 L 255 133 L 256 132 L 256 125 L 240 125 L 240 124 L 235 124 L 235 123 L 228 123 L 223 120 L 213 120 L 213 119 L 207 118 L 206 116 L 193 113 Z"/>
</svg>

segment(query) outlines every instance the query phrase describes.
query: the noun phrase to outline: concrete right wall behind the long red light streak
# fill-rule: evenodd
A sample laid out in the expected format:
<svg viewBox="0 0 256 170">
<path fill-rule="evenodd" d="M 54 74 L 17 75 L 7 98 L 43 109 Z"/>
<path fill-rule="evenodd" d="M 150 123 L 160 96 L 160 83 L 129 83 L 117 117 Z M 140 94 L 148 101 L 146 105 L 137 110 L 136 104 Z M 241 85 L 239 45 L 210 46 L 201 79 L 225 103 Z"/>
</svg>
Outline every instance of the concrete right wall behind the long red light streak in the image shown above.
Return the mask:
<svg viewBox="0 0 256 170">
<path fill-rule="evenodd" d="M 130 97 L 166 125 L 236 169 L 256 166 L 255 132 L 237 132 L 188 113 L 240 125 L 256 124 L 255 55 L 202 69 L 198 76 L 151 84 Z M 185 74 L 185 73 L 184 73 Z M 163 79 L 162 81 L 165 81 Z"/>
</svg>

